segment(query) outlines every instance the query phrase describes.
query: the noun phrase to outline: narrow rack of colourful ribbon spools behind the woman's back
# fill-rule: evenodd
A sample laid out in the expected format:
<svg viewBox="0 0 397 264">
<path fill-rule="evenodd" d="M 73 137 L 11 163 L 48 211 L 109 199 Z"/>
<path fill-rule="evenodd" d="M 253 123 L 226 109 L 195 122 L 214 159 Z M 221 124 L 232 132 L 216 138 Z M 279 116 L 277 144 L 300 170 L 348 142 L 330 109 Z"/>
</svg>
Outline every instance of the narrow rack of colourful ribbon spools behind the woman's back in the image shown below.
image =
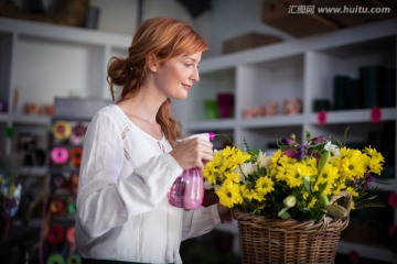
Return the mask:
<svg viewBox="0 0 397 264">
<path fill-rule="evenodd" d="M 47 174 L 47 223 L 42 226 L 43 256 L 81 261 L 75 246 L 75 212 L 83 141 L 94 114 L 110 102 L 105 99 L 55 98 Z"/>
</svg>

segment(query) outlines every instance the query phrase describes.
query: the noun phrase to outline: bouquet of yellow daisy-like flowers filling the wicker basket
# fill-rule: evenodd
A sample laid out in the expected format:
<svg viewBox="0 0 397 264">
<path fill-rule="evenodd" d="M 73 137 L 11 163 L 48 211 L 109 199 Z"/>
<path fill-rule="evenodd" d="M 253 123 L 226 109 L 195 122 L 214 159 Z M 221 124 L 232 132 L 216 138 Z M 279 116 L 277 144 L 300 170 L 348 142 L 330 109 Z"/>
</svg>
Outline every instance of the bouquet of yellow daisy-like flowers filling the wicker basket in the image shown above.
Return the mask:
<svg viewBox="0 0 397 264">
<path fill-rule="evenodd" d="M 244 145 L 216 151 L 203 169 L 206 188 L 215 189 L 228 208 L 285 220 L 344 218 L 348 211 L 330 204 L 341 191 L 351 194 L 352 209 L 382 206 L 372 193 L 378 188 L 371 184 L 380 175 L 384 157 L 371 146 L 348 148 L 309 132 L 302 144 L 293 134 L 282 139 L 271 156 Z"/>
</svg>

